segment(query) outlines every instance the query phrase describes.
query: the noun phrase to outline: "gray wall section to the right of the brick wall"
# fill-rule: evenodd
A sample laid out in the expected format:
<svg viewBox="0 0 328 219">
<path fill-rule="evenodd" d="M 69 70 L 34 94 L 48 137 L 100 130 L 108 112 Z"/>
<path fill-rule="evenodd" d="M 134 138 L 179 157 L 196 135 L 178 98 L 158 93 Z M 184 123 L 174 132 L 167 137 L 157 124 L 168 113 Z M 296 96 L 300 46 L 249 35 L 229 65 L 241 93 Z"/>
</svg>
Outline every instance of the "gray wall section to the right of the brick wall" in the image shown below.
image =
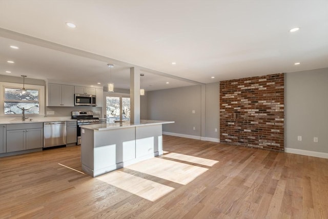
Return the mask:
<svg viewBox="0 0 328 219">
<path fill-rule="evenodd" d="M 328 153 L 328 68 L 285 74 L 285 147 Z"/>
</svg>

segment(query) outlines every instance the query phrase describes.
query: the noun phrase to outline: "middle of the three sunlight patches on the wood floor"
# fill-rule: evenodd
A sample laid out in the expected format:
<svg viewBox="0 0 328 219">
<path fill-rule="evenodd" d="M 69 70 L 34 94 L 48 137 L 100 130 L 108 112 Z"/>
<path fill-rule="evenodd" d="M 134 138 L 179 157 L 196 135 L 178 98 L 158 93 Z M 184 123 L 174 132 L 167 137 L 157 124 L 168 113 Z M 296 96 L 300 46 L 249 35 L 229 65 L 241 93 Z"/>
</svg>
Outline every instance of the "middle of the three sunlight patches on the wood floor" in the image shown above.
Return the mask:
<svg viewBox="0 0 328 219">
<path fill-rule="evenodd" d="M 207 168 L 165 160 L 157 157 L 129 165 L 126 168 L 141 173 L 147 173 L 149 175 L 182 185 L 187 185 L 196 177 L 208 170 Z"/>
</svg>

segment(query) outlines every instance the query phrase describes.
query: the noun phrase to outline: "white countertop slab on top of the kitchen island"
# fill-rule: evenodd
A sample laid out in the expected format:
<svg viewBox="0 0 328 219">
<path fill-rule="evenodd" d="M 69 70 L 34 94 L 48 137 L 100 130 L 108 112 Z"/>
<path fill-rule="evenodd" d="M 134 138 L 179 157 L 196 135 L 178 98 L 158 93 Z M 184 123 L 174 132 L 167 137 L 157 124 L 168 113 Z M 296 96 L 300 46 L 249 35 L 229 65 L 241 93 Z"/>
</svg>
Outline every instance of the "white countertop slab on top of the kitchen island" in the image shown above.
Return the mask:
<svg viewBox="0 0 328 219">
<path fill-rule="evenodd" d="M 110 129 L 121 129 L 121 128 L 130 128 L 137 126 L 150 126 L 150 125 L 160 125 L 160 124 L 170 124 L 174 123 L 173 121 L 158 121 L 158 120 L 140 120 L 138 124 L 131 124 L 129 122 L 123 123 L 102 123 L 102 124 L 91 124 L 91 125 L 82 125 L 81 128 L 92 129 L 96 131 L 104 131 Z"/>
</svg>

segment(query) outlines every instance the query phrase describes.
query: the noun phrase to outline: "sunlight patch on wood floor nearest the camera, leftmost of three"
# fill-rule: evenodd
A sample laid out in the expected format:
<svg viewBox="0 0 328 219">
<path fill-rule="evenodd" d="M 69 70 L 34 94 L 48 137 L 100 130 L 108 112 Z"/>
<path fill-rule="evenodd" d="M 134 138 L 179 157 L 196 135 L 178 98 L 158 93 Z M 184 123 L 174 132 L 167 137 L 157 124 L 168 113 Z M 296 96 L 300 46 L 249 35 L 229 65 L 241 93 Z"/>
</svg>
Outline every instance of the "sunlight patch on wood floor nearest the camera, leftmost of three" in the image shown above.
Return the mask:
<svg viewBox="0 0 328 219">
<path fill-rule="evenodd" d="M 97 180 L 103 181 L 142 198 L 146 198 L 152 202 L 174 190 L 174 188 L 170 186 L 162 185 L 121 171 L 114 171 L 98 176 Z"/>
</svg>

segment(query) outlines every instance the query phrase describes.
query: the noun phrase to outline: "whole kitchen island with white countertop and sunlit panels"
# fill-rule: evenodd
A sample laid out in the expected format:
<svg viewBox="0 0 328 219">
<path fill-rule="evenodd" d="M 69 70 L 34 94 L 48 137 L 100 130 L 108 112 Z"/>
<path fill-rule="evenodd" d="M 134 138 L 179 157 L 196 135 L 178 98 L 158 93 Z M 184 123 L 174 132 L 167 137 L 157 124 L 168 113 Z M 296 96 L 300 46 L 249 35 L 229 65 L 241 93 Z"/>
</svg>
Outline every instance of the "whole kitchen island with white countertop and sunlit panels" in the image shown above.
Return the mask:
<svg viewBox="0 0 328 219">
<path fill-rule="evenodd" d="M 82 170 L 95 177 L 163 154 L 162 125 L 169 123 L 174 122 L 80 126 Z"/>
</svg>

